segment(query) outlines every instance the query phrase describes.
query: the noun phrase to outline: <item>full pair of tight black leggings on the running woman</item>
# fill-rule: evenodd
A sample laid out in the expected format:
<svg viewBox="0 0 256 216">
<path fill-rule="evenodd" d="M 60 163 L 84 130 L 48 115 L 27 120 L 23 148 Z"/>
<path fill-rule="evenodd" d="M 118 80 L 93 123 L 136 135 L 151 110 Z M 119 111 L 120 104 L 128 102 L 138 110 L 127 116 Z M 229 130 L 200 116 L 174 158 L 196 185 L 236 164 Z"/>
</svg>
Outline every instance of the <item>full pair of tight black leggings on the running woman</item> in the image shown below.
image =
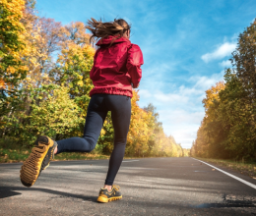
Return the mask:
<svg viewBox="0 0 256 216">
<path fill-rule="evenodd" d="M 105 185 L 112 186 L 124 156 L 131 119 L 130 97 L 113 94 L 94 94 L 88 106 L 83 138 L 71 137 L 57 141 L 57 153 L 90 152 L 94 150 L 108 111 L 111 111 L 114 127 L 114 149 L 110 156 Z"/>
</svg>

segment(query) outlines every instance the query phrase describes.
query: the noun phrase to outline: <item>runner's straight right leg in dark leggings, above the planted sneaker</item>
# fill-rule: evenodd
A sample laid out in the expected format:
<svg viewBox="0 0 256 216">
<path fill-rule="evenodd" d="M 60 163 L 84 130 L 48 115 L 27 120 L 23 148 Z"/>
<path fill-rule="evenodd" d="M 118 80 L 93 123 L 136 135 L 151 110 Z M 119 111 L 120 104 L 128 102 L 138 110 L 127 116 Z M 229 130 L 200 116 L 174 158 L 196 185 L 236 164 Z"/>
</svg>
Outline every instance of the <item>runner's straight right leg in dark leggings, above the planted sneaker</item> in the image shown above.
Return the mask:
<svg viewBox="0 0 256 216">
<path fill-rule="evenodd" d="M 107 186 L 113 185 L 124 156 L 131 119 L 131 98 L 123 95 L 108 95 L 107 104 L 111 111 L 114 127 L 114 149 L 109 160 L 105 188 L 111 189 Z"/>
</svg>

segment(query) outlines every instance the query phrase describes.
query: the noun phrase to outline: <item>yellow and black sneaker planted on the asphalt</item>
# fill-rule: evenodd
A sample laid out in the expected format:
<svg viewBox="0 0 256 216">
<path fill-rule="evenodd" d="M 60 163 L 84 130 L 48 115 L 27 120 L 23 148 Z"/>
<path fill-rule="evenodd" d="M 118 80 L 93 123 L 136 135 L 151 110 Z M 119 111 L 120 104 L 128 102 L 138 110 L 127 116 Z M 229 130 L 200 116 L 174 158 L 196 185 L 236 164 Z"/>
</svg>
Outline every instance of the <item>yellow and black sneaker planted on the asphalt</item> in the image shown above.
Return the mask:
<svg viewBox="0 0 256 216">
<path fill-rule="evenodd" d="M 114 201 L 121 198 L 122 198 L 122 194 L 120 192 L 120 187 L 113 185 L 110 192 L 107 189 L 100 189 L 99 195 L 96 200 L 98 202 L 109 202 L 109 201 Z"/>
</svg>

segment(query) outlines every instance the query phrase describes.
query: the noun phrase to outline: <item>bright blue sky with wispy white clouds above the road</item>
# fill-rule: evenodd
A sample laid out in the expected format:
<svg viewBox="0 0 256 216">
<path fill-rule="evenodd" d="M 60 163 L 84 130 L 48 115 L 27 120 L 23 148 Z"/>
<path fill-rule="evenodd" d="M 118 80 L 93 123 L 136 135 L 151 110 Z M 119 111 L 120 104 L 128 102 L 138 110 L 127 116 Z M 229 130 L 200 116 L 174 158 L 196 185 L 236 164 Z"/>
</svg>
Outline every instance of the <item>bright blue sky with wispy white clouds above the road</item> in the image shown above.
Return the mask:
<svg viewBox="0 0 256 216">
<path fill-rule="evenodd" d="M 166 135 L 191 147 L 204 117 L 205 91 L 223 81 L 237 36 L 255 19 L 255 0 L 37 0 L 55 21 L 90 18 L 132 24 L 144 54 L 139 105 L 153 103 Z"/>
</svg>

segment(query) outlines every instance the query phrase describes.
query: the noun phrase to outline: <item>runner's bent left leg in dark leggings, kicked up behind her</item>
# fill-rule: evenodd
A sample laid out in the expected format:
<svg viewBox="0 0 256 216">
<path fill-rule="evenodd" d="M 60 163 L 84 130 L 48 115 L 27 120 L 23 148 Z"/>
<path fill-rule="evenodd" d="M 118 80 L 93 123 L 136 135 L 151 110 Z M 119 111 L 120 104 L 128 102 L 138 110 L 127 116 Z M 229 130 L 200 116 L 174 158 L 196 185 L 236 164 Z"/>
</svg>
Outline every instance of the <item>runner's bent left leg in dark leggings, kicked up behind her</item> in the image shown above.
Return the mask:
<svg viewBox="0 0 256 216">
<path fill-rule="evenodd" d="M 71 137 L 58 140 L 57 154 L 61 152 L 90 152 L 95 149 L 97 138 L 107 114 L 104 96 L 102 94 L 92 96 L 88 106 L 83 138 Z"/>
</svg>

